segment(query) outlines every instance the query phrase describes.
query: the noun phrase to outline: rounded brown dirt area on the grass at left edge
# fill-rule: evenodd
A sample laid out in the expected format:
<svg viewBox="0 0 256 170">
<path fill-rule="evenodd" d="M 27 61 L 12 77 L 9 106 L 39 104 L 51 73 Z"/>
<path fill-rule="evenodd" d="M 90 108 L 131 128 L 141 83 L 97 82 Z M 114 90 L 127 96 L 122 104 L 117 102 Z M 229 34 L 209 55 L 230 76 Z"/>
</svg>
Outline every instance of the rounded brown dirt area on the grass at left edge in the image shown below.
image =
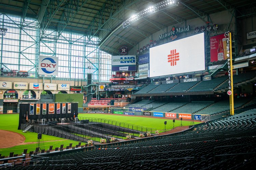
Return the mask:
<svg viewBox="0 0 256 170">
<path fill-rule="evenodd" d="M 11 132 L 0 130 L 0 148 L 10 148 L 17 145 L 23 144 L 25 141 L 25 136 Z"/>
</svg>

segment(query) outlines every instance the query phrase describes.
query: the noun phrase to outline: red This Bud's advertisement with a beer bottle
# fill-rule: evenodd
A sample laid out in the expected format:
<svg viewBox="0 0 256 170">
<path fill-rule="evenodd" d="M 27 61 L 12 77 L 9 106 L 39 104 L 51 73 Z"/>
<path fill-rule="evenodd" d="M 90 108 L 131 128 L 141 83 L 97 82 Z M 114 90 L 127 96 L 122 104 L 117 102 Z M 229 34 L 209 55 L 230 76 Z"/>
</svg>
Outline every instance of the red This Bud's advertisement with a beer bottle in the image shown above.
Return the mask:
<svg viewBox="0 0 256 170">
<path fill-rule="evenodd" d="M 227 60 L 227 43 L 224 34 L 210 37 L 211 62 Z"/>
</svg>

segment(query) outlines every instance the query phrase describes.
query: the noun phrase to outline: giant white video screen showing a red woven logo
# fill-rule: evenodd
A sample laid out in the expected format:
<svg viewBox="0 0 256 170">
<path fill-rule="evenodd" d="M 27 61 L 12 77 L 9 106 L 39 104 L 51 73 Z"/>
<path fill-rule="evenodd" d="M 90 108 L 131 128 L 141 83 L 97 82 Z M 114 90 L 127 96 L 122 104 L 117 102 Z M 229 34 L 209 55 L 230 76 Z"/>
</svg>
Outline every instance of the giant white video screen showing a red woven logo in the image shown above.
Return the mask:
<svg viewBox="0 0 256 170">
<path fill-rule="evenodd" d="M 204 33 L 152 47 L 149 55 L 151 78 L 205 70 Z"/>
</svg>

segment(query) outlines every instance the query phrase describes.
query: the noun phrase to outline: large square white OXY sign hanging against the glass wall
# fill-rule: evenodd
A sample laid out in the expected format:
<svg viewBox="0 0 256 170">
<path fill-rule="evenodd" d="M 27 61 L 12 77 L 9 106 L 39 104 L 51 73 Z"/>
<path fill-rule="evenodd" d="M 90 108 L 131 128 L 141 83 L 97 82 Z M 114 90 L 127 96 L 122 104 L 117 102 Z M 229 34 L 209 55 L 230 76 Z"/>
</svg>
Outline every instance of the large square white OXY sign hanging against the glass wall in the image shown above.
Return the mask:
<svg viewBox="0 0 256 170">
<path fill-rule="evenodd" d="M 38 74 L 58 75 L 58 57 L 39 56 Z"/>
</svg>

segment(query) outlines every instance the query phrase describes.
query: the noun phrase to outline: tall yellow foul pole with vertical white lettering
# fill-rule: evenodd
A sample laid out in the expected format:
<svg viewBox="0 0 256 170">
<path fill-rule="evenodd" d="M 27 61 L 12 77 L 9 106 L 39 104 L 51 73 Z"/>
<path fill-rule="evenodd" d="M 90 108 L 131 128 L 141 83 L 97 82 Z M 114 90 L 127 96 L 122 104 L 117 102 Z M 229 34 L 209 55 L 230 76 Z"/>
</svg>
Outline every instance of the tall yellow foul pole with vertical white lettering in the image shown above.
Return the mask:
<svg viewBox="0 0 256 170">
<path fill-rule="evenodd" d="M 230 103 L 230 115 L 234 115 L 234 97 L 233 97 L 233 71 L 232 71 L 232 46 L 231 46 L 231 32 L 226 32 L 224 35 L 226 55 L 228 58 L 228 91 L 229 103 Z"/>
</svg>

